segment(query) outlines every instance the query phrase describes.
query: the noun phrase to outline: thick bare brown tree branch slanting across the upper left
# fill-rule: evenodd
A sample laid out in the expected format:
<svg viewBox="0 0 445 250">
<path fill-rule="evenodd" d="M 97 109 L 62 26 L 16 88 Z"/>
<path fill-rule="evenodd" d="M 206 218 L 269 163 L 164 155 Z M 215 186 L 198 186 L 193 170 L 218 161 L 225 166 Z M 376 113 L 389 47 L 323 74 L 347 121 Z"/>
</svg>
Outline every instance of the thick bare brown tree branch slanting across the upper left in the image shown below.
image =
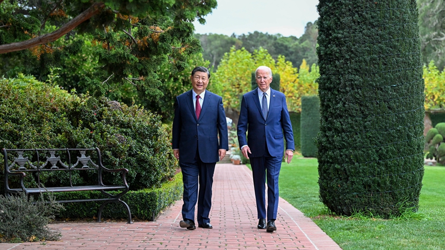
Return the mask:
<svg viewBox="0 0 445 250">
<path fill-rule="evenodd" d="M 61 38 L 68 32 L 70 32 L 73 28 L 77 27 L 82 22 L 90 19 L 90 17 L 97 14 L 103 8 L 105 8 L 104 3 L 95 3 L 90 8 L 80 13 L 80 15 L 76 16 L 71 21 L 65 23 L 62 27 L 60 27 L 59 29 L 55 30 L 52 33 L 43 36 L 38 36 L 33 39 L 29 39 L 22 42 L 0 45 L 0 54 L 29 49 L 44 43 L 53 42 Z"/>
</svg>

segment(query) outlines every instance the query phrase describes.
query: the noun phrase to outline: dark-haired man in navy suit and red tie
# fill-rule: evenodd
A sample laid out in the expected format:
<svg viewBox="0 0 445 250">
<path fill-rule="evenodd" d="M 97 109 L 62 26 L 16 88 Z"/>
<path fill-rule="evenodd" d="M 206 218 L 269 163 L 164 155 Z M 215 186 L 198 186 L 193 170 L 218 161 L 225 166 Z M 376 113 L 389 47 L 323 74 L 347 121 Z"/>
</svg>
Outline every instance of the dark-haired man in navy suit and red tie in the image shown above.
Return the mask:
<svg viewBox="0 0 445 250">
<path fill-rule="evenodd" d="M 229 149 L 226 115 L 222 98 L 205 90 L 209 84 L 209 70 L 196 67 L 190 78 L 193 89 L 176 97 L 172 131 L 173 154 L 179 160 L 184 182 L 180 226 L 196 229 L 197 201 L 198 227 L 211 229 L 209 213 L 215 164 Z"/>
</svg>

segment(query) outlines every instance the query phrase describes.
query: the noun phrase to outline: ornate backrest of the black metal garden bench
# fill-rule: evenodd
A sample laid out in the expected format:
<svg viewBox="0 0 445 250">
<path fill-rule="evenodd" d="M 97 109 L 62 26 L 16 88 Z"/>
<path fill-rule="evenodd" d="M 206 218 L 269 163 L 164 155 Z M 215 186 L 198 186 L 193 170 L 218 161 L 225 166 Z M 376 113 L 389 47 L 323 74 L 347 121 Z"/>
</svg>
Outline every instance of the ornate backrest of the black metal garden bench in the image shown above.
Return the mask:
<svg viewBox="0 0 445 250">
<path fill-rule="evenodd" d="M 94 172 L 96 184 L 101 183 L 102 165 L 99 148 L 51 148 L 51 149 L 3 149 L 5 161 L 5 187 L 12 176 L 26 175 L 25 186 L 42 187 L 47 185 L 48 176 L 60 178 L 61 186 L 75 186 L 83 178 Z M 54 175 L 53 173 L 59 172 Z M 12 177 L 13 178 L 13 177 Z M 91 178 L 90 178 L 91 179 Z M 52 181 L 54 182 L 54 181 Z"/>
</svg>

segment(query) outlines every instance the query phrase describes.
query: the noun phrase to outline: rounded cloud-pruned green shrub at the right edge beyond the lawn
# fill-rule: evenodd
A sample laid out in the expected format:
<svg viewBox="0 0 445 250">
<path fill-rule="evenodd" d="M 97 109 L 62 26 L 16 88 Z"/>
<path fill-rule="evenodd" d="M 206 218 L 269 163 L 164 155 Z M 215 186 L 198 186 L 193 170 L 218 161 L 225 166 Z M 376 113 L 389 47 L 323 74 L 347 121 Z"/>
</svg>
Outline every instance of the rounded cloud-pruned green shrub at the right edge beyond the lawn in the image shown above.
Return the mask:
<svg viewBox="0 0 445 250">
<path fill-rule="evenodd" d="M 437 162 L 445 163 L 445 122 L 439 122 L 435 128 L 428 131 L 425 141 L 427 142 L 428 152 L 426 157 L 428 159 L 436 160 Z"/>
</svg>

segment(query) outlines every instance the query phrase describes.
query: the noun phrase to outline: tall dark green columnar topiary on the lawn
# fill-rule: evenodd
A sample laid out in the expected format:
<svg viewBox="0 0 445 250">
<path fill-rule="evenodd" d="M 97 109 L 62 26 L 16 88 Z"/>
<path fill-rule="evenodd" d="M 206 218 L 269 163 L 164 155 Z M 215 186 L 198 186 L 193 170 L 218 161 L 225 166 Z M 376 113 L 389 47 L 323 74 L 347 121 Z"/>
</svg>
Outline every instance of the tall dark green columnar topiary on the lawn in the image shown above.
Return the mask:
<svg viewBox="0 0 445 250">
<path fill-rule="evenodd" d="M 400 214 L 422 187 L 424 81 L 415 0 L 320 0 L 320 198 Z"/>
</svg>

